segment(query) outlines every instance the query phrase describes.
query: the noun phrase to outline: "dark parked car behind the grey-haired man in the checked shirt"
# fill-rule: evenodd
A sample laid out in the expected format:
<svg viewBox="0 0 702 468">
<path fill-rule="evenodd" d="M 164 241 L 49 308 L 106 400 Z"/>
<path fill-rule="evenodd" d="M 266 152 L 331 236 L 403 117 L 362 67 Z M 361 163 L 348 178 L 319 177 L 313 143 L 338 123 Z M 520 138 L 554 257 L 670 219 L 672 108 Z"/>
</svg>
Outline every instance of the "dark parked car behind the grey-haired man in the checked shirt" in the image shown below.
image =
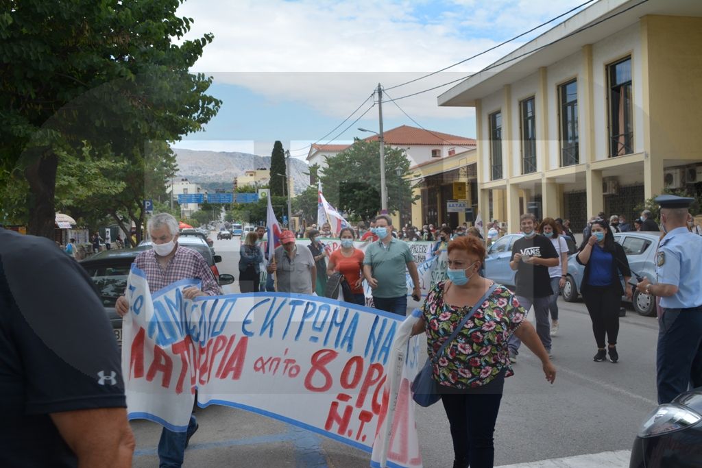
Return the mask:
<svg viewBox="0 0 702 468">
<path fill-rule="evenodd" d="M 234 276 L 231 274 L 219 274 L 215 264 L 221 262 L 222 258 L 219 255 L 212 255 L 210 248 L 204 241 L 195 237 L 186 237 L 178 239 L 178 243 L 197 250 L 212 269 L 220 285 L 234 282 Z M 136 248 L 104 250 L 80 262 L 98 288 L 100 300 L 102 300 L 102 305 L 105 307 L 107 318 L 112 323 L 114 337 L 117 338 L 119 345 L 122 342 L 122 319 L 114 309 L 114 303 L 117 302 L 117 297 L 124 294 L 127 276 L 134 258 L 149 248 L 151 248 L 150 242 L 142 242 Z"/>
</svg>

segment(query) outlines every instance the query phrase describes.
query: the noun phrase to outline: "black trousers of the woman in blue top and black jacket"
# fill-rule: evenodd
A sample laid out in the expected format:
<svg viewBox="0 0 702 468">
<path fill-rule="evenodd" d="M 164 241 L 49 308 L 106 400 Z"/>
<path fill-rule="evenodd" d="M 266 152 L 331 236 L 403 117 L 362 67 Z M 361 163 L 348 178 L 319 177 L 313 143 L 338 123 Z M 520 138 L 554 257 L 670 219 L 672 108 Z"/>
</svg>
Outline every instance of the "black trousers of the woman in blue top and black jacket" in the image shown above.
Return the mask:
<svg viewBox="0 0 702 468">
<path fill-rule="evenodd" d="M 619 305 L 621 293 L 611 286 L 588 286 L 588 292 L 583 294 L 585 307 L 588 307 L 592 320 L 592 334 L 598 348 L 604 348 L 604 338 L 610 345 L 616 345 L 619 335 Z"/>
</svg>

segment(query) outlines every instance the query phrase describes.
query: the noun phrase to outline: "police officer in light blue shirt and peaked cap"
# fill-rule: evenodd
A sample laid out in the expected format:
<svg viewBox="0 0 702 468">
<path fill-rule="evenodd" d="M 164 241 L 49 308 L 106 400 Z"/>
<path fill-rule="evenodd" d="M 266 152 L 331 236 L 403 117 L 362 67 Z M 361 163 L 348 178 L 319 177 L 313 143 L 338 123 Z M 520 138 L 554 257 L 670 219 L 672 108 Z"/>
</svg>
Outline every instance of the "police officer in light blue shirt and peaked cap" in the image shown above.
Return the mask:
<svg viewBox="0 0 702 468">
<path fill-rule="evenodd" d="M 658 319 L 656 387 L 658 403 L 670 403 L 689 387 L 702 385 L 702 236 L 687 230 L 694 199 L 661 195 L 661 225 L 656 276 L 637 283 L 641 293 L 661 297 Z"/>
</svg>

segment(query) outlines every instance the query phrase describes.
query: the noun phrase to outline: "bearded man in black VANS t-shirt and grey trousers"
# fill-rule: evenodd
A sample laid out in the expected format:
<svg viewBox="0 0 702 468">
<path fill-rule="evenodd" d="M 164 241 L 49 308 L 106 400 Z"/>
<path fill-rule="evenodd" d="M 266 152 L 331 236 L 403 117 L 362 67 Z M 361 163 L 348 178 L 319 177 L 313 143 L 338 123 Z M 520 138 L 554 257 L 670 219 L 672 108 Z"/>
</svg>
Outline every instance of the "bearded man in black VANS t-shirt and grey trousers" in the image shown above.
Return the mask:
<svg viewBox="0 0 702 468">
<path fill-rule="evenodd" d="M 548 322 L 548 300 L 553 294 L 548 267 L 558 265 L 558 254 L 550 239 L 536 234 L 536 218 L 531 213 L 519 217 L 519 226 L 524 237 L 517 239 L 512 246 L 510 268 L 517 270 L 515 295 L 519 304 L 529 310 L 534 305 L 536 333 L 543 347 L 551 354 L 550 324 Z M 515 362 L 522 342 L 512 335 L 508 348 L 510 361 Z"/>
</svg>

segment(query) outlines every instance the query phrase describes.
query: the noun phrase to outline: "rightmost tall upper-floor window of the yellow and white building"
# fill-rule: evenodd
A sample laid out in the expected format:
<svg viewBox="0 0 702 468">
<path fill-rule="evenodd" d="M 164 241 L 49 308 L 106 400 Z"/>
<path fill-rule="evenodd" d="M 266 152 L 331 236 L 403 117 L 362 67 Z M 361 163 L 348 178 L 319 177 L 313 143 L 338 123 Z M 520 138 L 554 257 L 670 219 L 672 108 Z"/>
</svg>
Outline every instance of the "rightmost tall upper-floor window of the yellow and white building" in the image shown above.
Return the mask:
<svg viewBox="0 0 702 468">
<path fill-rule="evenodd" d="M 609 81 L 609 157 L 634 152 L 631 57 L 607 66 Z"/>
</svg>

